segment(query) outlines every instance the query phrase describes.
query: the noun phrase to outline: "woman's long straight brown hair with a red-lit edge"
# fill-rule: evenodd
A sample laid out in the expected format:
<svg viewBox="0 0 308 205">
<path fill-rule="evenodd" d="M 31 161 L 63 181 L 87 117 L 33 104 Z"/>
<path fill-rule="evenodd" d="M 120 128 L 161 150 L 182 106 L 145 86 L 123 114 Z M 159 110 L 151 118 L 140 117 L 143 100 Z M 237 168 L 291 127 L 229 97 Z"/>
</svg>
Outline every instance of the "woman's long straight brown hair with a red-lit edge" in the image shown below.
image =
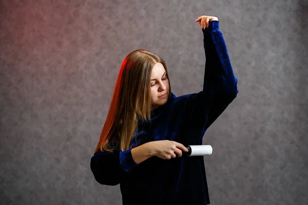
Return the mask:
<svg viewBox="0 0 308 205">
<path fill-rule="evenodd" d="M 161 63 L 166 70 L 166 77 L 169 81 L 168 98 L 171 96 L 167 66 L 160 56 L 144 49 L 128 54 L 121 65 L 108 115 L 95 152 L 129 149 L 130 140 L 139 122 L 143 120 L 150 122 L 153 109 L 150 77 L 156 63 Z"/>
</svg>

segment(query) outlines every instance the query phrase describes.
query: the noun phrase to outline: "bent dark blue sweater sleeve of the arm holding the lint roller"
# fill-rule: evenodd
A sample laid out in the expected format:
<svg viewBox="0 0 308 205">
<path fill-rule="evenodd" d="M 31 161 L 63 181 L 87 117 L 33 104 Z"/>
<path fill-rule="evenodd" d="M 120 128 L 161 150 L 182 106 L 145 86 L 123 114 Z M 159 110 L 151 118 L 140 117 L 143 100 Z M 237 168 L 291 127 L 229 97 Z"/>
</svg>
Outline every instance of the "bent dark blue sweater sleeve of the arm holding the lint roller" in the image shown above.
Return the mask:
<svg viewBox="0 0 308 205">
<path fill-rule="evenodd" d="M 138 166 L 131 156 L 131 149 L 126 151 L 97 152 L 91 157 L 90 167 L 102 185 L 118 185 L 131 170 Z"/>
</svg>

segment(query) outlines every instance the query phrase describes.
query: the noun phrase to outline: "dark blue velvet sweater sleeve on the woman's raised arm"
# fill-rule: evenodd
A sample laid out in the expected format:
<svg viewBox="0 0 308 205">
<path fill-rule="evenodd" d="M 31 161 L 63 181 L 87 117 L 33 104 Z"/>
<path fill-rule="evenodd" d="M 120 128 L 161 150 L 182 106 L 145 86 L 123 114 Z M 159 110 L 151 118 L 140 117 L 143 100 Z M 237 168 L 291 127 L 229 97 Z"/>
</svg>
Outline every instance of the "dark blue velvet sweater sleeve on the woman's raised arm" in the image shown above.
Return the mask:
<svg viewBox="0 0 308 205">
<path fill-rule="evenodd" d="M 186 106 L 188 120 L 193 123 L 198 120 L 204 131 L 233 101 L 238 90 L 219 22 L 210 22 L 202 31 L 206 57 L 203 90 L 191 94 Z"/>
</svg>

